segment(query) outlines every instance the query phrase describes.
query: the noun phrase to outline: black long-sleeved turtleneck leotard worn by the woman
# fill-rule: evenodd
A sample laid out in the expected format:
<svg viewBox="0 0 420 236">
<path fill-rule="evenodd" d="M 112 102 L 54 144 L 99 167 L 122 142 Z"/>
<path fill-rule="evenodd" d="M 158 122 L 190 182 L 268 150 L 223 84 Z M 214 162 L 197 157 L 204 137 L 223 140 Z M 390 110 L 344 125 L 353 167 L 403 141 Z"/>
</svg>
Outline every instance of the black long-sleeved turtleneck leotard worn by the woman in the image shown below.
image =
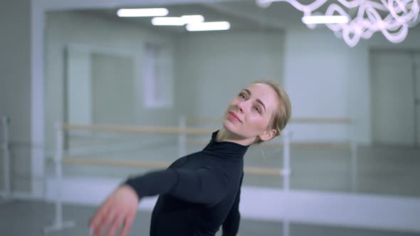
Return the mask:
<svg viewBox="0 0 420 236">
<path fill-rule="evenodd" d="M 150 236 L 234 236 L 239 227 L 243 155 L 248 146 L 216 141 L 217 132 L 199 152 L 184 156 L 164 171 L 129 178 L 139 198 L 159 195 Z"/>
</svg>

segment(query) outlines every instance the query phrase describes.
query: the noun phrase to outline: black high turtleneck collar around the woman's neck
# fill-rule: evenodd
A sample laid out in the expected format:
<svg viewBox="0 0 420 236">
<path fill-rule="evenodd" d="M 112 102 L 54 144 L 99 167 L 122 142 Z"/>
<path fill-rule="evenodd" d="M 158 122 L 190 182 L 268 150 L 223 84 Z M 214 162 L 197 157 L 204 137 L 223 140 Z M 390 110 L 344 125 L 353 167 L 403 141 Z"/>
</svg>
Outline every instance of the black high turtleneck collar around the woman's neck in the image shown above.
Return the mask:
<svg viewBox="0 0 420 236">
<path fill-rule="evenodd" d="M 209 153 L 212 156 L 218 156 L 227 159 L 243 158 L 243 155 L 246 154 L 249 146 L 243 146 L 231 141 L 216 141 L 218 132 L 219 130 L 211 134 L 211 140 L 209 144 L 207 144 L 207 146 L 203 149 L 203 152 Z"/>
</svg>

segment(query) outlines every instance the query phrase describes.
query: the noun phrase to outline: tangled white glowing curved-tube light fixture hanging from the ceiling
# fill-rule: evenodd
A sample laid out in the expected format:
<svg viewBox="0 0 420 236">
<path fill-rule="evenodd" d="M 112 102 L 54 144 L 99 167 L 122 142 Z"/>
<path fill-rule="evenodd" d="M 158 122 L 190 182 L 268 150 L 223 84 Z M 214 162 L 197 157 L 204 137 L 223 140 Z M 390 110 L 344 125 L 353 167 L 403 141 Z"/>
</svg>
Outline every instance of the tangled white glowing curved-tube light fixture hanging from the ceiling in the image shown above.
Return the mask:
<svg viewBox="0 0 420 236">
<path fill-rule="evenodd" d="M 303 12 L 304 18 L 313 16 L 327 0 L 314 0 L 311 4 L 300 4 L 297 0 L 256 0 L 256 4 L 266 8 L 274 1 L 285 1 Z M 335 33 L 340 33 L 350 47 L 359 43 L 360 38 L 370 38 L 375 32 L 381 32 L 392 43 L 400 43 L 406 38 L 409 28 L 419 23 L 419 0 L 337 0 L 329 4 L 324 16 L 342 16 L 348 22 L 322 22 Z M 347 12 L 356 10 L 355 16 Z M 382 18 L 381 15 L 386 15 Z M 315 16 L 314 16 L 315 17 Z M 304 21 L 305 22 L 305 21 Z M 309 28 L 315 28 L 315 22 L 306 21 Z"/>
</svg>

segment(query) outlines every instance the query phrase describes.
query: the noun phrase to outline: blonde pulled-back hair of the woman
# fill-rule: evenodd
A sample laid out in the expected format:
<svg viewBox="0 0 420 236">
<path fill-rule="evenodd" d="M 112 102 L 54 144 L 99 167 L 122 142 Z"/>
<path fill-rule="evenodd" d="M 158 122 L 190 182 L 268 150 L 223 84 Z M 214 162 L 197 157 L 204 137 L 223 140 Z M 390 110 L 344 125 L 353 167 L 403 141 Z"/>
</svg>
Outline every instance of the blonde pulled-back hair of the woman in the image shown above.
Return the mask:
<svg viewBox="0 0 420 236">
<path fill-rule="evenodd" d="M 269 85 L 277 94 L 278 107 L 276 112 L 273 114 L 273 117 L 271 117 L 271 125 L 268 129 L 275 129 L 275 136 L 280 136 L 292 115 L 292 104 L 290 103 L 288 94 L 285 92 L 284 88 L 278 84 L 278 82 L 273 80 L 256 80 L 252 83 Z M 258 139 L 254 142 L 254 144 L 261 144 L 262 142 L 263 140 Z"/>
</svg>

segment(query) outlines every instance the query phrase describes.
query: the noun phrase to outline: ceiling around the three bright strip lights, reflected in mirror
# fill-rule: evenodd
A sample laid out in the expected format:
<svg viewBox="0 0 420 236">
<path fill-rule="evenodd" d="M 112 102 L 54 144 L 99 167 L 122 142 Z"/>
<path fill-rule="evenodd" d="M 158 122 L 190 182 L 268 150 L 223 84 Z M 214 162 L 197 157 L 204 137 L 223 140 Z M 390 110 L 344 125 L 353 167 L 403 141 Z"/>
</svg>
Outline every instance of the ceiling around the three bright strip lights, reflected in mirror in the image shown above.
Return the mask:
<svg viewBox="0 0 420 236">
<path fill-rule="evenodd" d="M 191 0 L 194 1 L 194 0 Z M 299 0 L 301 4 L 310 4 L 315 0 Z M 372 1 L 372 0 L 371 0 Z M 381 0 L 373 0 L 381 1 Z M 320 12 L 332 2 L 337 0 L 328 0 L 324 6 L 320 8 Z M 127 7 L 127 6 L 126 6 Z M 136 6 L 132 6 L 135 8 Z M 283 31 L 290 28 L 307 28 L 302 23 L 303 13 L 295 9 L 287 2 L 274 2 L 266 9 L 257 6 L 255 0 L 226 0 L 226 1 L 201 1 L 194 4 L 177 3 L 165 5 L 149 5 L 142 4 L 145 7 L 165 7 L 169 10 L 168 16 L 182 16 L 187 14 L 201 14 L 205 21 L 229 21 L 231 23 L 231 31 L 248 31 L 248 32 L 268 32 Z M 120 18 L 116 15 L 119 8 L 112 9 L 86 9 L 77 10 L 83 14 L 93 14 L 95 16 L 111 18 L 115 21 L 133 23 L 139 26 L 158 29 L 168 33 L 187 33 L 183 26 L 152 26 L 151 18 Z M 326 28 L 325 26 L 317 26 L 317 28 Z M 420 28 L 417 25 L 415 28 Z M 412 30 L 412 28 L 411 28 Z"/>
</svg>

